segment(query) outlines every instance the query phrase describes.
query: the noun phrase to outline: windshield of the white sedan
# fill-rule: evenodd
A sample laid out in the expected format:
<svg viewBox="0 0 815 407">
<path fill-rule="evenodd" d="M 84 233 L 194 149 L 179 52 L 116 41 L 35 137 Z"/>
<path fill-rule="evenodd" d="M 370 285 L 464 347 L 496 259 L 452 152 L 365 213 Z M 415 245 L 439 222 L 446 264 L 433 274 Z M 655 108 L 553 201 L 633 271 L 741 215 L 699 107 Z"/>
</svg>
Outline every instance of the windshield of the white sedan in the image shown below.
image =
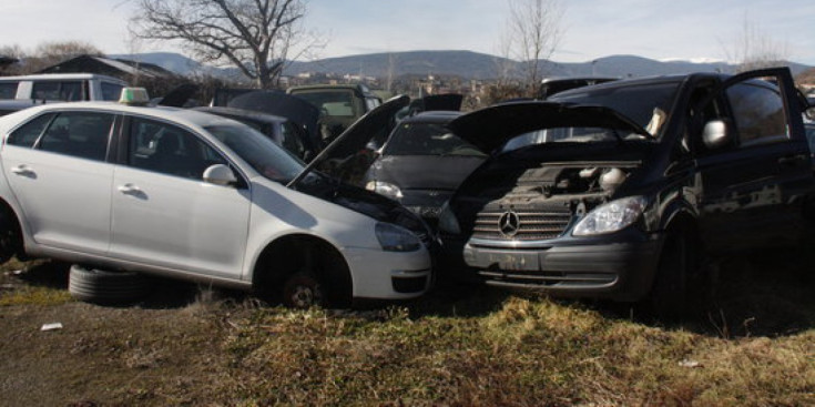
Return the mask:
<svg viewBox="0 0 815 407">
<path fill-rule="evenodd" d="M 303 171 L 303 163 L 272 140 L 245 125 L 204 128 L 263 176 L 286 184 Z"/>
</svg>

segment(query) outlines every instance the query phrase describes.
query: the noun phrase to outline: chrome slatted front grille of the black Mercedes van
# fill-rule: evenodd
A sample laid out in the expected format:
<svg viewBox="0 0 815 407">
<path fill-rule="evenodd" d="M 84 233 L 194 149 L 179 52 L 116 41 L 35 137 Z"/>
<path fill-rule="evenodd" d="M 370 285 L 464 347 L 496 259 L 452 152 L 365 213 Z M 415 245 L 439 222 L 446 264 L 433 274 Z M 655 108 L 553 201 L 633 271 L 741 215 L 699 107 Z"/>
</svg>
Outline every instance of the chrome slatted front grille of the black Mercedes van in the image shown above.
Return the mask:
<svg viewBox="0 0 815 407">
<path fill-rule="evenodd" d="M 517 231 L 506 233 L 501 220 L 508 214 L 517 215 Z M 572 218 L 568 207 L 523 211 L 485 211 L 476 217 L 472 237 L 489 241 L 543 241 L 563 234 Z"/>
</svg>

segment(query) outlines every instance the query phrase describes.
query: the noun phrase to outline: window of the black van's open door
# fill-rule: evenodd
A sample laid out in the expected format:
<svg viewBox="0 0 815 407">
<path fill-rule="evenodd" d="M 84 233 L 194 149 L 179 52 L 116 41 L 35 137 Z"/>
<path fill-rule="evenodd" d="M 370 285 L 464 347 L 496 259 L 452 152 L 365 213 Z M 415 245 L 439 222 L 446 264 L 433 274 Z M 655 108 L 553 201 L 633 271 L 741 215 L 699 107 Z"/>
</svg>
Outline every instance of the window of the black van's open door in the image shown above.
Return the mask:
<svg viewBox="0 0 815 407">
<path fill-rule="evenodd" d="M 784 100 L 775 84 L 760 80 L 738 83 L 727 89 L 727 98 L 742 145 L 788 135 Z"/>
</svg>

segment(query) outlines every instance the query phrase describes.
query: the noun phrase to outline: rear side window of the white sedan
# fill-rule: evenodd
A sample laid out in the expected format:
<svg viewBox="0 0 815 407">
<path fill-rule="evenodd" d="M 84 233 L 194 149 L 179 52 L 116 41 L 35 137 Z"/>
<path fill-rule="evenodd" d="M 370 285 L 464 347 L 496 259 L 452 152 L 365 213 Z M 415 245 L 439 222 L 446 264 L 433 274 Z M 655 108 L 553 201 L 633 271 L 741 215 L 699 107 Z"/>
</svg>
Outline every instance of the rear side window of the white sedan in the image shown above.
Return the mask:
<svg viewBox="0 0 815 407">
<path fill-rule="evenodd" d="M 42 151 L 104 161 L 113 114 L 60 113 L 48 126 L 37 147 Z"/>
</svg>

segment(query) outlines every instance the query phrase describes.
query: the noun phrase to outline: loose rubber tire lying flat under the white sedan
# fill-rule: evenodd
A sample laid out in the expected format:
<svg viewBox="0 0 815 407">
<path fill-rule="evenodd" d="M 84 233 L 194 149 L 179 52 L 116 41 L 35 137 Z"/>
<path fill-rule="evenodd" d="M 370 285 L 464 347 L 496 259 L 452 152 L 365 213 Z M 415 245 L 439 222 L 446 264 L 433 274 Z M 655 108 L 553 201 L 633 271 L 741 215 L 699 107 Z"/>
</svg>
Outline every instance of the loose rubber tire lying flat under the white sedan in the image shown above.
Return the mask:
<svg viewBox="0 0 815 407">
<path fill-rule="evenodd" d="M 150 293 L 150 279 L 135 272 L 108 272 L 72 265 L 68 291 L 80 301 L 94 304 L 125 304 Z"/>
</svg>

